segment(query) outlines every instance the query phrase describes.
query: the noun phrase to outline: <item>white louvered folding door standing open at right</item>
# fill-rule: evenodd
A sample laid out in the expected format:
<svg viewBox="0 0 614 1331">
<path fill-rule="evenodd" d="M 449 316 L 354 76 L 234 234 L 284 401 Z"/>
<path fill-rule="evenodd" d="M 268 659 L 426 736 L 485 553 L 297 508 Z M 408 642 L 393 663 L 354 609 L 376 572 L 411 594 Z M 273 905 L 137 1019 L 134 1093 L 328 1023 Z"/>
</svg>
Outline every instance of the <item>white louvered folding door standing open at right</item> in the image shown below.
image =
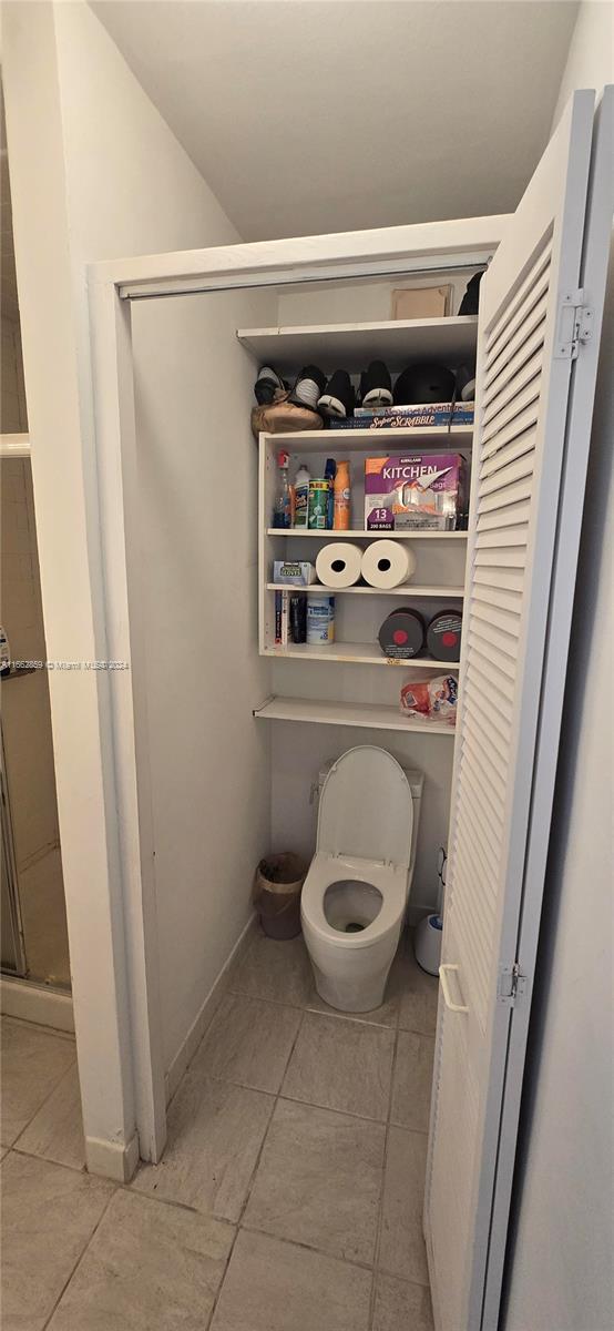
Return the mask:
<svg viewBox="0 0 614 1331">
<path fill-rule="evenodd" d="M 537 937 L 560 729 L 560 709 L 549 708 L 549 697 L 562 693 L 569 642 L 567 623 L 566 640 L 552 659 L 557 543 L 566 535 L 558 511 L 569 458 L 575 457 L 575 494 L 569 486 L 565 491 L 566 523 L 575 540 L 567 560 L 570 615 L 590 430 L 590 411 L 570 429 L 570 394 L 593 106 L 591 92 L 574 96 L 481 284 L 461 696 L 424 1213 L 437 1331 L 497 1326 L 506 1231 L 506 1213 L 493 1230 L 501 1117 L 514 1010 L 522 1004 L 528 1009 L 533 980 L 530 973 L 521 980 L 521 993 L 510 1000 L 513 966 L 522 961 L 518 938 L 528 909 Z M 582 351 L 581 345 L 579 357 Z M 548 767 L 537 761 L 545 725 L 554 755 Z M 529 881 L 537 808 L 544 855 Z M 517 1033 L 522 1058 L 516 1050 L 512 1059 L 518 1079 L 526 1017 L 522 1030 L 522 1037 Z M 513 1134 L 512 1150 L 505 1142 L 509 1175 L 516 1122 Z M 510 1178 L 508 1206 L 509 1183 Z M 496 1279 L 486 1296 L 489 1267 Z"/>
</svg>

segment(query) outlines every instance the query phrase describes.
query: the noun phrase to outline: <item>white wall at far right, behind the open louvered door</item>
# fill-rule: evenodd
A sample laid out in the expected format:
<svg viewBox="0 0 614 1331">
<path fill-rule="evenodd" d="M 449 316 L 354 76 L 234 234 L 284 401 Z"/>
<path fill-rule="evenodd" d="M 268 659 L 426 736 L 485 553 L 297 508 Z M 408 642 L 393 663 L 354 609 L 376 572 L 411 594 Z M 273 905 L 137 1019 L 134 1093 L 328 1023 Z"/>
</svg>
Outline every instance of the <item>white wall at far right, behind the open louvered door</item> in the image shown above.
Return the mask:
<svg viewBox="0 0 614 1331">
<path fill-rule="evenodd" d="M 611 7 L 583 4 L 556 118 L 574 88 L 613 80 L 611 39 Z M 614 1323 L 613 325 L 614 252 L 532 1014 L 505 1331 L 610 1331 Z"/>
</svg>

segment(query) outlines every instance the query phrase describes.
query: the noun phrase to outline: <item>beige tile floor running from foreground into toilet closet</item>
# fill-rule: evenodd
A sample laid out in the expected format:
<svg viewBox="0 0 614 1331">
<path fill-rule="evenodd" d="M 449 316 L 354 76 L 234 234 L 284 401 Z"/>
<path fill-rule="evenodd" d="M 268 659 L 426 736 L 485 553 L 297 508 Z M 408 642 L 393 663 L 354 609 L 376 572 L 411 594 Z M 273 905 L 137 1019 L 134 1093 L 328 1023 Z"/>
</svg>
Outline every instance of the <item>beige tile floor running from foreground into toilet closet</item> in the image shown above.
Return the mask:
<svg viewBox="0 0 614 1331">
<path fill-rule="evenodd" d="M 73 1040 L 4 1018 L 3 1331 L 431 1331 L 436 1004 L 407 941 L 354 1018 L 255 936 L 129 1187 L 84 1171 Z"/>
</svg>

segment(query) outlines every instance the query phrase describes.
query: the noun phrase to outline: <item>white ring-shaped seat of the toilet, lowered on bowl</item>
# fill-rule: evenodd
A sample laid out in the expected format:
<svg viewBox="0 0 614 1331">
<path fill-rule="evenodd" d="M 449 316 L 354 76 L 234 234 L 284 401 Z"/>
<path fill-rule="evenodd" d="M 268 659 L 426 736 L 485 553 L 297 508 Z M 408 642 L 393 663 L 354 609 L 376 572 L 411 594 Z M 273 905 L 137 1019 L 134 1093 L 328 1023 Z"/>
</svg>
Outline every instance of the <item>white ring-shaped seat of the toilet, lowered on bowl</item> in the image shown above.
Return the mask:
<svg viewBox="0 0 614 1331">
<path fill-rule="evenodd" d="M 380 909 L 360 933 L 343 933 L 335 929 L 326 917 L 324 897 L 330 886 L 355 878 L 381 893 Z M 323 941 L 336 948 L 356 950 L 379 942 L 391 930 L 399 929 L 399 920 L 405 909 L 407 869 L 391 864 L 375 864 L 372 860 L 358 860 L 350 856 L 316 852 L 310 872 L 303 884 L 300 910 L 310 928 Z"/>
</svg>

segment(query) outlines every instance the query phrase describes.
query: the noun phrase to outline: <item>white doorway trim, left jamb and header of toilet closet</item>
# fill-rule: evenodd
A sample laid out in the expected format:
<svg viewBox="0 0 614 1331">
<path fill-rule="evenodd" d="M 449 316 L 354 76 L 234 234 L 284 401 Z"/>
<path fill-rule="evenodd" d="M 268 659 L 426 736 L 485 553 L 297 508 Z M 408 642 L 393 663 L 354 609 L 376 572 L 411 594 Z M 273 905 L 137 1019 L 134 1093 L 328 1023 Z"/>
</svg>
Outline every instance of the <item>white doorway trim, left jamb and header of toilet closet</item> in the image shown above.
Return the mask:
<svg viewBox="0 0 614 1331">
<path fill-rule="evenodd" d="M 161 1045 L 150 760 L 145 691 L 146 626 L 138 532 L 133 299 L 263 286 L 478 268 L 502 240 L 508 216 L 395 226 L 299 240 L 258 241 L 93 264 L 88 268 L 96 415 L 94 475 L 104 566 L 106 655 L 128 668 L 108 672 L 100 699 L 101 763 L 120 828 L 120 890 L 110 900 L 124 966 L 108 982 L 129 1030 L 124 1139 L 158 1161 L 166 1141 Z M 112 744 L 105 743 L 110 732 Z M 138 777 L 137 777 L 138 773 Z M 125 982 L 124 982 L 125 980 Z M 85 1125 L 86 1131 L 86 1125 Z"/>
</svg>

